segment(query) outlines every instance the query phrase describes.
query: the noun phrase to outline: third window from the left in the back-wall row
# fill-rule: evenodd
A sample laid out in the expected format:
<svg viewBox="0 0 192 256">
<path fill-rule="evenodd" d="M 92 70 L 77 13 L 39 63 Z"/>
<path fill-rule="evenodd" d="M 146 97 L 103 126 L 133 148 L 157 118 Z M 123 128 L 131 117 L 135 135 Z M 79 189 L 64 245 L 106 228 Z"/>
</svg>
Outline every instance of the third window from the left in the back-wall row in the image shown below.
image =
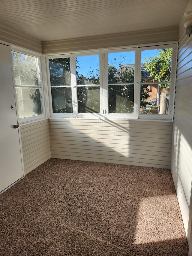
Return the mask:
<svg viewBox="0 0 192 256">
<path fill-rule="evenodd" d="M 106 54 L 108 117 L 133 118 L 135 51 L 107 52 Z"/>
</svg>

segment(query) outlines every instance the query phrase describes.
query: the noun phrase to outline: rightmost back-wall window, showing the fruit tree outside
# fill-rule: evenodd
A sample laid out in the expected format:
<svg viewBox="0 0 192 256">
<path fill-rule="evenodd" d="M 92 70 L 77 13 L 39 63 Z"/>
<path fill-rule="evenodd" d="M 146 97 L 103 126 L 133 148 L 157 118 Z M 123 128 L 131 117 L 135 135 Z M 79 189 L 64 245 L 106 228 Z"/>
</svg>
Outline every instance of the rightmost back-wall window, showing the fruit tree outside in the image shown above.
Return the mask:
<svg viewBox="0 0 192 256">
<path fill-rule="evenodd" d="M 143 115 L 169 117 L 172 110 L 170 104 L 172 53 L 172 47 L 141 50 L 140 118 Z"/>
</svg>

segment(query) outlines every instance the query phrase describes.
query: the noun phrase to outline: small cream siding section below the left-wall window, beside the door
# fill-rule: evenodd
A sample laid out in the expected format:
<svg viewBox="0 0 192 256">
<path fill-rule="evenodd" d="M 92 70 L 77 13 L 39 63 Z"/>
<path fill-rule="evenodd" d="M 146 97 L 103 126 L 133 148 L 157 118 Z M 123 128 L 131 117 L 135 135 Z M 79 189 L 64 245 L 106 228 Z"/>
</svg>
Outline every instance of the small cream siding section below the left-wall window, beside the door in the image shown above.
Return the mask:
<svg viewBox="0 0 192 256">
<path fill-rule="evenodd" d="M 21 126 L 25 174 L 51 158 L 48 120 Z"/>
</svg>

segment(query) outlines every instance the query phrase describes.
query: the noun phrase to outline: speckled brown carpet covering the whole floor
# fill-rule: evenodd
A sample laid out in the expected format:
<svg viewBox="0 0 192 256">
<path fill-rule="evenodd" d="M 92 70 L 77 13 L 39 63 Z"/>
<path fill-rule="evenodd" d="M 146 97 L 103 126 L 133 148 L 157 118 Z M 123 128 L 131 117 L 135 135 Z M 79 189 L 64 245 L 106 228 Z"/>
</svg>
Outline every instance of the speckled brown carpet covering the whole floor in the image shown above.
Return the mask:
<svg viewBox="0 0 192 256">
<path fill-rule="evenodd" d="M 188 255 L 170 170 L 52 158 L 0 203 L 0 255 Z"/>
</svg>

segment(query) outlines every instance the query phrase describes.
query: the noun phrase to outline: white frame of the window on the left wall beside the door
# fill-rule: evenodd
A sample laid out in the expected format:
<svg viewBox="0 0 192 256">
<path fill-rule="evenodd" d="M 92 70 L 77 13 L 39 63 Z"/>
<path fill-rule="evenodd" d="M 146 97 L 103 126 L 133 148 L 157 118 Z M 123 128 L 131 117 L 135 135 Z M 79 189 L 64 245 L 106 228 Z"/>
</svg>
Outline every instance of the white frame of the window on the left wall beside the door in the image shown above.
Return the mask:
<svg viewBox="0 0 192 256">
<path fill-rule="evenodd" d="M 17 46 L 14 46 L 14 45 L 11 45 L 11 51 L 38 58 L 38 64 L 39 64 L 38 66 L 39 66 L 39 72 L 40 72 L 40 86 L 38 86 L 38 88 L 41 88 L 42 114 L 19 118 L 19 124 L 25 124 L 25 123 L 29 123 L 29 122 L 39 121 L 39 120 L 42 120 L 42 119 L 47 119 L 48 117 L 47 117 L 47 112 L 46 112 L 46 107 L 45 107 L 45 100 L 44 100 L 44 95 L 45 95 L 44 94 L 44 91 L 45 91 L 44 80 L 45 80 L 45 77 L 44 77 L 44 74 L 42 72 L 42 63 L 43 63 L 42 54 L 30 51 L 30 50 L 26 50 L 24 48 L 17 47 Z M 12 59 L 12 56 L 11 56 L 11 59 Z M 16 89 L 16 87 L 20 87 L 20 86 L 15 85 L 14 74 L 13 74 L 13 81 L 14 81 L 14 88 L 15 89 Z M 21 86 L 21 87 L 23 88 L 24 86 Z M 33 86 L 32 88 L 36 88 L 36 87 Z"/>
</svg>

